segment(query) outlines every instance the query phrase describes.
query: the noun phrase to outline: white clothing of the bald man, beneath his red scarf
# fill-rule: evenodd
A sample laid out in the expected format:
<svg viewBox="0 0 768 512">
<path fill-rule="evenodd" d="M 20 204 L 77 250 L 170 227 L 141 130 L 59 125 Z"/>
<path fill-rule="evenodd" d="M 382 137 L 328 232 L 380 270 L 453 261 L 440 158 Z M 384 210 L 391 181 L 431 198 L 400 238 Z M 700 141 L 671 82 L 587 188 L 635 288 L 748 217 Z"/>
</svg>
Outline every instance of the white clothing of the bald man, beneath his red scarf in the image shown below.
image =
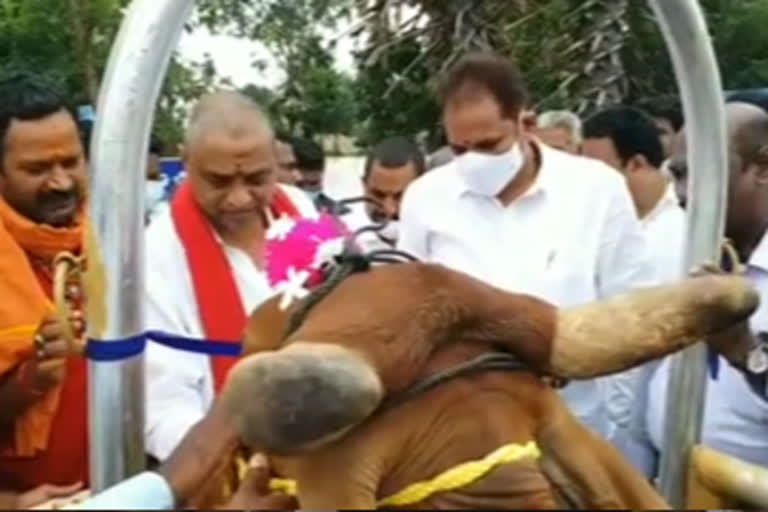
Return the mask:
<svg viewBox="0 0 768 512">
<path fill-rule="evenodd" d="M 309 197 L 281 185 L 302 216 L 316 216 Z M 267 277 L 242 250 L 224 245 L 246 312 L 272 296 Z M 148 330 L 204 338 L 184 246 L 170 210 L 146 232 L 145 321 Z M 167 458 L 190 427 L 200 421 L 214 398 L 210 358 L 150 343 L 146 350 L 147 451 Z"/>
</svg>

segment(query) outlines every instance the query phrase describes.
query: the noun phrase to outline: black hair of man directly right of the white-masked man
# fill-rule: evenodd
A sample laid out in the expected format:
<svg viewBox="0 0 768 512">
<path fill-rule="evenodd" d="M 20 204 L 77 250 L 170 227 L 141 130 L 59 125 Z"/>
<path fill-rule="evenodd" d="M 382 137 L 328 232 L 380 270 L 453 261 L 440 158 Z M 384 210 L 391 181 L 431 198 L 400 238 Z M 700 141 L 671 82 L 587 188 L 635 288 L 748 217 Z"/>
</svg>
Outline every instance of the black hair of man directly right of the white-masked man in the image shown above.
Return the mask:
<svg viewBox="0 0 768 512">
<path fill-rule="evenodd" d="M 632 107 L 611 107 L 598 112 L 584 123 L 585 139 L 610 138 L 622 161 L 643 155 L 654 167 L 664 162 L 664 148 L 659 129 L 650 116 Z"/>
</svg>

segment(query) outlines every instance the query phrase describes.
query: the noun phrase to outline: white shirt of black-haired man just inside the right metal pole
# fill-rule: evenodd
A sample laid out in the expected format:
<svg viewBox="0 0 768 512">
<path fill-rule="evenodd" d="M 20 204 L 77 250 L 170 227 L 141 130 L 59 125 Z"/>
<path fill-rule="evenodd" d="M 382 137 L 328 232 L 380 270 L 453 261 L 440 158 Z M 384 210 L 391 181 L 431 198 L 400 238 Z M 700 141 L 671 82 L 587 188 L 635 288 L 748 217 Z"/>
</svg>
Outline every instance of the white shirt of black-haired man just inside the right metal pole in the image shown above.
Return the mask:
<svg viewBox="0 0 768 512">
<path fill-rule="evenodd" d="M 686 219 L 673 184 L 668 185 L 665 194 L 640 223 L 656 280 L 662 284 L 679 281 L 684 270 Z M 652 478 L 656 472 L 657 454 L 648 438 L 645 415 L 649 402 L 649 381 L 658 365 L 659 361 L 652 361 L 617 376 L 613 383 L 616 394 L 623 394 L 624 400 L 632 400 L 627 432 L 617 440 L 617 445 L 627 459 L 648 478 Z M 614 401 L 616 398 L 613 397 Z"/>
</svg>

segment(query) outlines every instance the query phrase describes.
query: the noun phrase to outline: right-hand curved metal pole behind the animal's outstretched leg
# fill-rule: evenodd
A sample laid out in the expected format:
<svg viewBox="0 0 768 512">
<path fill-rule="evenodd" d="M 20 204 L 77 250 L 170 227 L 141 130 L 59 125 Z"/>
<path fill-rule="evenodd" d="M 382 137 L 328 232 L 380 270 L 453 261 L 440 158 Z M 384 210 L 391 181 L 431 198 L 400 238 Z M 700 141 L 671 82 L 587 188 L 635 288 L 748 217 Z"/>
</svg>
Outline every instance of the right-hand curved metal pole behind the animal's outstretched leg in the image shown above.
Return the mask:
<svg viewBox="0 0 768 512">
<path fill-rule="evenodd" d="M 723 88 L 706 21 L 696 0 L 650 0 L 675 67 L 688 140 L 686 265 L 716 262 L 726 207 L 728 152 Z M 673 357 L 667 392 L 661 492 L 685 505 L 691 450 L 701 437 L 707 385 L 706 347 Z"/>
</svg>

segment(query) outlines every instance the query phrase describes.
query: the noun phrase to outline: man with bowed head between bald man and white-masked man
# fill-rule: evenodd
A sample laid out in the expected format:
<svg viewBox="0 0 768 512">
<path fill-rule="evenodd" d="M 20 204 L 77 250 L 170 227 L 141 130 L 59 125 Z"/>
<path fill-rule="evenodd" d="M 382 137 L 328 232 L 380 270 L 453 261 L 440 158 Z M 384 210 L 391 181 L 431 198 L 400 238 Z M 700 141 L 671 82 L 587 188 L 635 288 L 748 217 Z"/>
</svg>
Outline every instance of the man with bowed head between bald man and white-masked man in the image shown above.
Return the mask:
<svg viewBox="0 0 768 512">
<path fill-rule="evenodd" d="M 393 249 L 400 223 L 400 202 L 408 186 L 424 174 L 426 162 L 419 147 L 405 137 L 381 141 L 368 153 L 363 171 L 363 190 L 370 200 L 364 214 L 350 224 L 361 228 L 386 223 L 383 230 L 367 232 L 360 237 L 367 251 Z M 363 212 L 359 212 L 363 213 Z"/>
</svg>

